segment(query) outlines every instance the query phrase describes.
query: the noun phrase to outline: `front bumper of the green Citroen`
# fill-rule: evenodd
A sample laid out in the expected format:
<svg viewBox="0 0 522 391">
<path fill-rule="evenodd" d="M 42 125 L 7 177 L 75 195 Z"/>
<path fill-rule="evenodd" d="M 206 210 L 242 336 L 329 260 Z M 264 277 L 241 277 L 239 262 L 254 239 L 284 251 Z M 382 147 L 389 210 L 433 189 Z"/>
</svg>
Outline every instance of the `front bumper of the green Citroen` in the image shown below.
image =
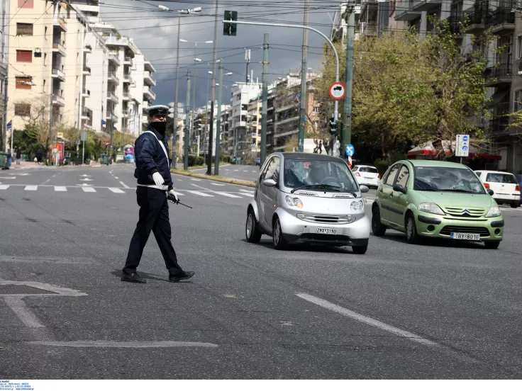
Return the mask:
<svg viewBox="0 0 522 391">
<path fill-rule="evenodd" d="M 451 232 L 480 234 L 481 241 L 502 240 L 504 235 L 502 216 L 458 218 L 417 212 L 416 226 L 418 234 L 423 237 L 440 239 L 450 239 Z"/>
</svg>

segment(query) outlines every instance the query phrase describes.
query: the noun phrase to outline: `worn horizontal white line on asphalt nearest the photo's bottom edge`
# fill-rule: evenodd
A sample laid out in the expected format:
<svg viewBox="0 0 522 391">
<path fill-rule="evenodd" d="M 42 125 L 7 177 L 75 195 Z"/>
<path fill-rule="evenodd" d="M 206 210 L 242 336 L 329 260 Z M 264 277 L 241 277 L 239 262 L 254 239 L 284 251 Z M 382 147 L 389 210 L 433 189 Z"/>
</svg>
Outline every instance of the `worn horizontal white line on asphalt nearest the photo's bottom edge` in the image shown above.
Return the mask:
<svg viewBox="0 0 522 391">
<path fill-rule="evenodd" d="M 29 341 L 30 345 L 67 348 L 217 348 L 216 344 L 186 341 Z"/>
</svg>

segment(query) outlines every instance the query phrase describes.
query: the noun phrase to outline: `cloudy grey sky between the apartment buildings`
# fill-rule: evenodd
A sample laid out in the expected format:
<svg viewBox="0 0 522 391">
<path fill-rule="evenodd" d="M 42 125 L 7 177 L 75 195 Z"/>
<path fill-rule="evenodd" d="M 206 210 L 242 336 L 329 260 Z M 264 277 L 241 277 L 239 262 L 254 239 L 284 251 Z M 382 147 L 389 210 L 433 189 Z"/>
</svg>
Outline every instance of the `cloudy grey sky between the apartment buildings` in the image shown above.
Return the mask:
<svg viewBox="0 0 522 391">
<path fill-rule="evenodd" d="M 145 57 L 156 69 L 154 77 L 157 85 L 155 104 L 167 104 L 174 101 L 176 45 L 177 45 L 177 13 L 161 11 L 158 5 L 167 6 L 172 10 L 201 7 L 202 12 L 195 16 L 182 16 L 179 38 L 189 41 L 204 42 L 213 40 L 215 2 L 199 0 L 194 3 L 140 0 L 107 0 L 101 4 L 101 17 L 106 22 L 113 23 L 121 35 L 133 38 Z M 331 32 L 331 18 L 339 9 L 339 2 L 314 0 L 310 1 L 309 26 L 320 30 L 326 36 Z M 245 47 L 251 51 L 250 72 L 253 70 L 253 80 L 262 77 L 262 43 L 264 33 L 269 33 L 269 76 L 274 81 L 284 77 L 288 72 L 300 72 L 301 45 L 303 30 L 298 28 L 277 28 L 273 26 L 238 25 L 236 36 L 223 35 L 224 11 L 238 11 L 238 21 L 256 21 L 266 23 L 303 23 L 304 0 L 221 0 L 218 4 L 218 58 L 223 58 L 225 71 L 233 72 L 231 76 L 223 76 L 223 103 L 230 101 L 230 86 L 236 81 L 245 81 L 246 60 Z M 317 33 L 309 32 L 309 72 L 320 72 L 321 52 L 324 38 Z M 203 62 L 196 65 L 196 107 L 204 106 L 209 85 L 209 101 L 211 99 L 211 62 L 213 44 L 198 43 L 196 58 Z M 185 102 L 187 96 L 187 70 L 194 72 L 194 43 L 179 42 L 179 85 L 178 101 Z M 217 66 L 216 66 L 217 72 Z M 207 77 L 209 76 L 209 78 Z M 216 77 L 217 79 L 217 77 Z M 216 80 L 217 82 L 217 80 Z M 194 77 L 191 77 L 191 101 Z M 216 90 L 217 99 L 217 90 Z M 192 102 L 191 102 L 192 106 Z"/>
</svg>

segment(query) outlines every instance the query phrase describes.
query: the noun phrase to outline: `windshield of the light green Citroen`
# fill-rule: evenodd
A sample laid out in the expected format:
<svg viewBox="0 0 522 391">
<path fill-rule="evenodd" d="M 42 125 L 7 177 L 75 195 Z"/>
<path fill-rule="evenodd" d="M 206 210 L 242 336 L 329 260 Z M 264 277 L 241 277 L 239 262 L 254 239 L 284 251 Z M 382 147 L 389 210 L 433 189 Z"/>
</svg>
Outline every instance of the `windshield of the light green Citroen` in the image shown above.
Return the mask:
<svg viewBox="0 0 522 391">
<path fill-rule="evenodd" d="M 415 167 L 414 190 L 455 191 L 484 194 L 484 186 L 473 171 L 448 167 Z"/>
</svg>

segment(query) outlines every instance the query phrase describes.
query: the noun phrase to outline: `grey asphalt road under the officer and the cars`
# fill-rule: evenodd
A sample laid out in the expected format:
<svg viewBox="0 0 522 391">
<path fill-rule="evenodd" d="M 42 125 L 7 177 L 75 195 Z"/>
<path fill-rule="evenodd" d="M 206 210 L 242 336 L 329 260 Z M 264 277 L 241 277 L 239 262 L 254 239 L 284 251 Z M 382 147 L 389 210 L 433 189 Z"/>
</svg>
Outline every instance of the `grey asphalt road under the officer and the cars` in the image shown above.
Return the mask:
<svg viewBox="0 0 522 391">
<path fill-rule="evenodd" d="M 245 242 L 251 188 L 174 179 L 196 276 L 169 283 L 151 237 L 130 284 L 132 167 L 0 172 L 0 378 L 521 378 L 522 209 L 496 251 L 391 232 L 280 252 Z"/>
</svg>

